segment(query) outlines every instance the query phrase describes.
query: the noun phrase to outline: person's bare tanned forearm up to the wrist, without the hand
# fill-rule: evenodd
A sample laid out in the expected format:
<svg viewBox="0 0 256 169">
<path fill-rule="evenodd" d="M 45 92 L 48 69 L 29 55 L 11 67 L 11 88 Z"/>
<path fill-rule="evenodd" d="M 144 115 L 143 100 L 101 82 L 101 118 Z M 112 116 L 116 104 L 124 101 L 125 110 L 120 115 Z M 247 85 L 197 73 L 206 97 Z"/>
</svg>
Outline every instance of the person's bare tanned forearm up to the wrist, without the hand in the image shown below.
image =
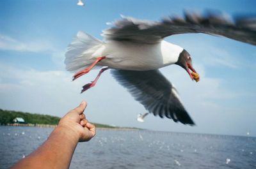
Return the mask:
<svg viewBox="0 0 256 169">
<path fill-rule="evenodd" d="M 79 136 L 58 126 L 35 152 L 12 168 L 68 168 Z"/>
</svg>

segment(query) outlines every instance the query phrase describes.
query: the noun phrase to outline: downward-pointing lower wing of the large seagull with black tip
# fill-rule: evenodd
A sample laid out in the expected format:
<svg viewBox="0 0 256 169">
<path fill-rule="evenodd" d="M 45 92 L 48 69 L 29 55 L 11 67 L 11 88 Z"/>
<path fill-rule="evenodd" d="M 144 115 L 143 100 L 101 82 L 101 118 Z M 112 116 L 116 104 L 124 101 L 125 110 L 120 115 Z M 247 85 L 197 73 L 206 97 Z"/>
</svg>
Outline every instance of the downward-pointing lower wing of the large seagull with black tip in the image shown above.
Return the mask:
<svg viewBox="0 0 256 169">
<path fill-rule="evenodd" d="M 175 122 L 195 124 L 180 102 L 176 89 L 159 70 L 111 70 L 111 73 L 148 112 Z"/>
</svg>

